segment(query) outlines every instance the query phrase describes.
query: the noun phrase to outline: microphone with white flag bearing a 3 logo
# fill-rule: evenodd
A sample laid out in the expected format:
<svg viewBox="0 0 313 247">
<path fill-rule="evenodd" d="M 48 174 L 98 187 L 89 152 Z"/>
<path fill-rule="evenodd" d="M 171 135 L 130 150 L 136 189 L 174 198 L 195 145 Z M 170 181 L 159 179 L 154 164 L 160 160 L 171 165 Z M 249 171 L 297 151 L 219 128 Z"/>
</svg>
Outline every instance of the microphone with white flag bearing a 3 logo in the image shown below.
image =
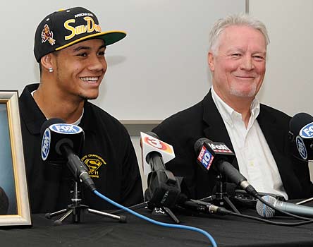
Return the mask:
<svg viewBox="0 0 313 247">
<path fill-rule="evenodd" d="M 171 171 L 166 170 L 166 160 L 175 157 L 173 147 L 159 140 L 153 132 L 141 133 L 142 159 L 150 170 L 148 187 L 145 191 L 145 200 L 150 207 L 173 207 L 180 194 L 180 183 Z"/>
</svg>

